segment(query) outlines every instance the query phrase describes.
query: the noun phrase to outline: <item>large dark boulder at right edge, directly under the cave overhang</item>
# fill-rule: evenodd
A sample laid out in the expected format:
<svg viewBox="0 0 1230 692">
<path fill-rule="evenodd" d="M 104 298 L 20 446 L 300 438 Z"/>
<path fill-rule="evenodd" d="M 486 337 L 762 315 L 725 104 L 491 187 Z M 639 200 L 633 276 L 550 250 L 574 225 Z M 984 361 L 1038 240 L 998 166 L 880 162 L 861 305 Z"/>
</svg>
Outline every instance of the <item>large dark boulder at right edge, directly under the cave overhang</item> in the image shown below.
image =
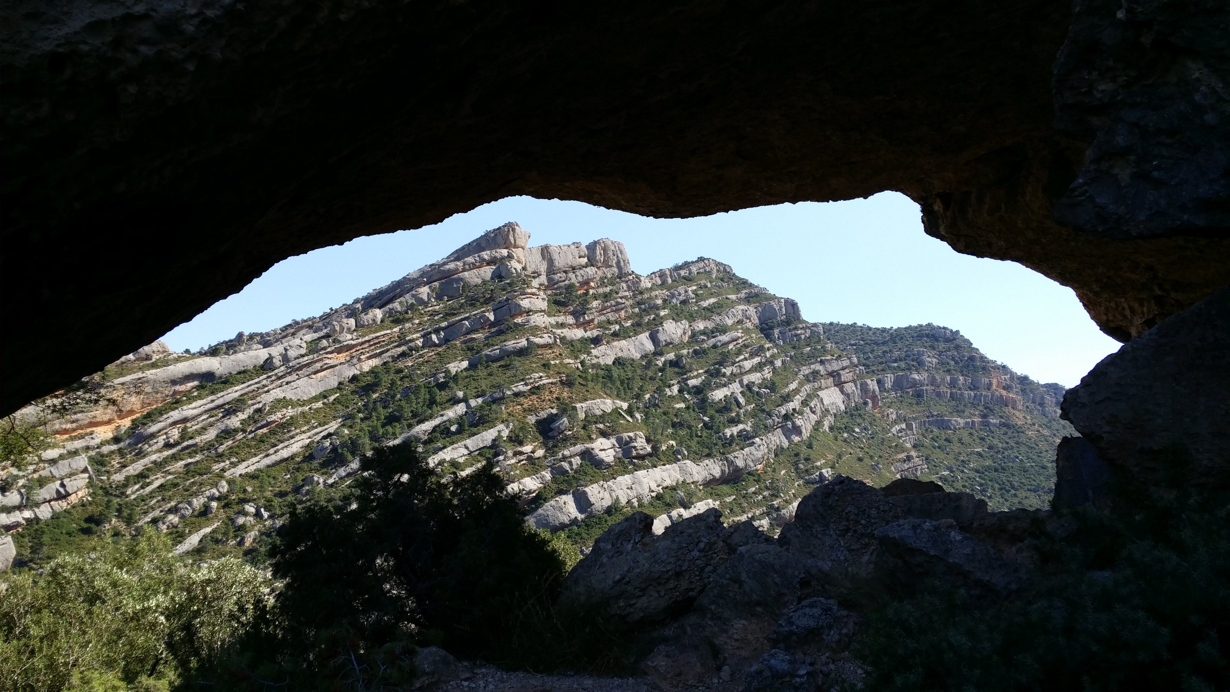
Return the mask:
<svg viewBox="0 0 1230 692">
<path fill-rule="evenodd" d="M 1140 488 L 1230 480 L 1230 287 L 1137 336 L 1064 395 L 1061 415 Z"/>
</svg>

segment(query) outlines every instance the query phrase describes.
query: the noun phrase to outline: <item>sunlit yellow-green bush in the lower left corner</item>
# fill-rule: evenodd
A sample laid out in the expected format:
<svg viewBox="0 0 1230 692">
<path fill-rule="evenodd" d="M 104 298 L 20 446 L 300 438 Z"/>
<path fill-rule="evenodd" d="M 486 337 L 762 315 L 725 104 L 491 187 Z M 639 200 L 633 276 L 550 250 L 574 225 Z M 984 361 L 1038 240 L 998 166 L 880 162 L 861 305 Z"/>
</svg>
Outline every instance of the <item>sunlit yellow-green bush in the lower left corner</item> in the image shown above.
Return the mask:
<svg viewBox="0 0 1230 692">
<path fill-rule="evenodd" d="M 184 566 L 154 532 L 87 550 L 0 582 L 0 688 L 166 690 L 240 637 L 268 586 L 235 559 Z"/>
</svg>

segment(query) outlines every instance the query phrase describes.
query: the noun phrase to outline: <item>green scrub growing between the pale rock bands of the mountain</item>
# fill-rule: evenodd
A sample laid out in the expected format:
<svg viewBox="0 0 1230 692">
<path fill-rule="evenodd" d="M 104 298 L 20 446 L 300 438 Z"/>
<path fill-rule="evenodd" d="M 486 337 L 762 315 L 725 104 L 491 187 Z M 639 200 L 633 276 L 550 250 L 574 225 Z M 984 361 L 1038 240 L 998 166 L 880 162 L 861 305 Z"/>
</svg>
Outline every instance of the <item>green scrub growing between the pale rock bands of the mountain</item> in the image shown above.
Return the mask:
<svg viewBox="0 0 1230 692">
<path fill-rule="evenodd" d="M 670 291 L 688 286 L 696 296 L 692 303 L 663 305 L 669 310 L 668 315 L 645 312 L 630 323 L 605 323 L 609 325 L 604 326 L 608 332 L 600 340 L 614 341 L 635 336 L 664 319 L 679 319 L 685 314 L 691 319 L 711 316 L 733 304 L 728 299 L 729 296 L 752 286 L 739 277 L 727 275 L 721 277 L 721 284 L 710 287 L 695 277 L 689 280 L 691 281 L 663 286 L 661 289 Z M 434 303 L 419 313 L 430 313 L 428 321 L 438 323 L 449 315 L 461 315 L 490 307 L 503 296 L 524 287 L 522 278 L 485 282 L 467 288 L 459 298 Z M 565 291 L 562 296 L 567 298 L 566 303 L 568 300 L 571 303 L 554 309 L 572 310 L 579 307 L 581 293 L 573 297 Z M 699 307 L 699 300 L 702 298 L 720 300 Z M 754 299 L 769 298 L 770 294 L 763 293 Z M 405 314 L 396 316 L 400 320 L 408 319 Z M 392 325 L 384 324 L 367 329 L 379 331 L 390 326 Z M 740 436 L 728 435 L 723 438 L 722 431 L 745 425 L 750 436 L 765 433 L 768 427 L 763 411 L 790 400 L 793 395 L 790 388 L 797 384 L 795 371 L 819 356 L 854 353 L 859 356 L 860 364 L 868 373 L 888 373 L 919 369 L 918 363 L 907 363 L 903 358 L 908 351 L 925 348 L 941 356 L 940 363 L 929 369 L 943 372 L 952 369 L 978 376 L 1001 372 L 999 366 L 978 353 L 967 340 L 953 337 L 952 332 L 932 325 L 903 329 L 828 325 L 827 329 L 830 334 L 829 340 L 812 336 L 802 341 L 776 345 L 777 355 L 772 358 L 792 358 L 790 364 L 774 369 L 771 377 L 759 384 L 760 393 L 756 396 L 745 393 L 752 401 L 743 409 L 737 406 L 731 396 L 710 403 L 707 394 L 720 384 L 720 379 L 731 379 L 722 378 L 720 368 L 731 366 L 740 357 L 749 357 L 749 348 L 756 344 L 768 348 L 769 345 L 765 345 L 761 335 L 753 329 L 743 330 L 747 341 L 733 351 L 726 347 L 706 348 L 701 344 L 680 345 L 638 361 L 619 358 L 610 364 L 590 362 L 583 369 L 578 369 L 561 361 L 579 360 L 593 347 L 590 340 L 581 339 L 555 346 L 535 347 L 494 363 L 480 363 L 449 377 L 439 385 L 427 382 L 429 376 L 438 372 L 440 363 L 469 358 L 491 344 L 485 339 L 462 339 L 434 348 L 430 353 L 416 351 L 408 357 L 392 360 L 355 374 L 349 382 L 305 401 L 288 399 L 269 401 L 256 408 L 237 426 L 219 432 L 205 445 L 194 441 L 199 428 L 181 426 L 177 428 L 177 441 L 181 442 L 177 447 L 160 451 L 161 458 L 156 464 L 132 474 L 127 480 L 114 484 L 114 488 L 106 481 L 98 484 L 96 496 L 108 495 L 117 500 L 116 507 L 102 512 L 108 521 L 143 520 L 161 507 L 173 506 L 175 502 L 226 479 L 228 477 L 223 474 L 228 465 L 258 456 L 305 430 L 330 421 L 342 421 L 342 426 L 332 433 L 337 445 L 331 447 L 330 454 L 325 458 L 316 459 L 304 453 L 276 467 L 248 472 L 241 481 L 231 479 L 232 491 L 219 499 L 221 512 L 235 512 L 244 504 L 257 504 L 276 516 L 283 516 L 295 505 L 295 497 L 289 495 L 288 490 L 300 484 L 309 474 L 328 473 L 327 469 L 339 468 L 405 435 L 415 425 L 451 405 L 455 392 L 461 392 L 465 398 L 481 396 L 501 387 L 522 382 L 533 373 L 558 378 L 558 382 L 539 387 L 524 395 L 483 404 L 467 416 L 438 426 L 422 441 L 424 452 L 454 445 L 492 425 L 510 422 L 514 427 L 508 441 L 503 443 L 506 447 L 533 443 L 541 446 L 546 452 L 544 457 L 531 459 L 529 463 L 502 469 L 507 475 L 506 480 L 515 480 L 545 470 L 549 465 L 546 459 L 552 454 L 597 435 L 641 431 L 654 445 L 654 454 L 642 462 L 617 459 L 608 469 L 583 464 L 572 474 L 552 478 L 526 507 L 531 511 L 560 493 L 632 473 L 645 468 L 646 463 L 652 465 L 674 463 L 678 461 L 674 453 L 679 448 L 686 451 L 686 458 L 690 459 L 710 458 L 738 449 L 744 445 Z M 498 340 L 536 334 L 524 326 L 501 326 L 497 331 L 499 331 L 496 337 Z M 840 348 L 833 348 L 834 344 Z M 424 360 L 424 356 L 429 357 Z M 950 367 L 952 363 L 959 367 Z M 129 428 L 121 431 L 113 442 L 123 442 L 132 432 L 187 403 L 199 401 L 262 374 L 264 371 L 261 368 L 250 368 L 212 383 L 203 383 L 187 394 L 143 414 Z M 663 394 L 663 388 L 670 382 L 689 378 L 700 378 L 701 382 L 696 387 L 680 384 L 676 395 Z M 1018 379 L 1033 389 L 1038 387 Z M 526 415 L 549 408 L 567 411 L 571 403 L 601 398 L 627 401 L 630 404 L 627 414 L 636 416 L 636 420 L 627 421 L 614 412 L 592 416 L 558 438 L 546 435 L 549 431 L 544 426 L 550 421 L 540 422 L 538 426 L 525 421 Z M 244 410 L 248 405 L 251 403 L 241 398 L 232 401 L 223 415 Z M 676 408 L 678 405 L 683 408 Z M 1002 419 L 1009 425 L 962 431 L 925 428 L 916 436 L 911 449 L 902 443 L 899 435 L 889 433 L 892 424 L 884 417 L 884 411 L 889 408 L 902 415 L 990 416 Z M 1014 412 L 989 405 L 957 405 L 934 399 L 884 396 L 879 411 L 850 408 L 835 417 L 830 432 L 817 428 L 806 445 L 780 451 L 777 458 L 766 465 L 779 474 L 771 490 L 763 488 L 753 494 L 732 494 L 731 489 L 718 485 L 700 489 L 699 500 L 721 501 L 727 517 L 749 513 L 760 516 L 771 513 L 776 507 L 785 507 L 806 494 L 811 486 L 802 484 L 801 479 L 822 468 L 830 468 L 835 473 L 875 484 L 884 484 L 895 478 L 895 472 L 892 469 L 893 461 L 905 453 L 914 453 L 922 457 L 927 465 L 922 478 L 940 480 L 950 489 L 966 490 L 985 497 L 991 509 L 1046 506 L 1053 483 L 1054 442 L 1069 430 L 1066 424 L 1060 421 L 1023 414 L 1014 417 L 1011 414 Z M 139 462 L 141 453 L 149 452 L 134 452 L 130 446 L 121 445 L 105 457 L 91 456 L 91 463 L 96 469 L 111 465 L 113 473 L 124 465 Z M 494 448 L 482 449 L 469 458 L 444 464 L 443 472 L 461 472 L 496 454 Z M 769 504 L 774 507 L 768 507 Z M 679 506 L 681 505 L 672 494 L 664 493 L 651 499 L 643 509 L 651 512 L 665 512 Z M 601 525 L 631 510 L 621 507 L 614 516 L 592 517 L 588 523 Z M 32 563 L 58 554 L 62 550 L 55 548 L 55 544 L 68 547 L 71 543 L 73 531 L 87 534 L 90 529 L 81 523 L 81 520 L 84 516 L 97 513 L 91 510 L 71 522 L 50 520 L 57 525 L 73 523 L 75 528 L 49 531 L 48 538 L 52 538 L 49 542 L 18 541 L 18 558 L 25 563 Z M 97 518 L 96 516 L 95 520 Z M 214 521 L 198 515 L 186 517 L 178 527 L 169 531 L 169 537 L 173 542 L 181 541 Z M 32 526 L 23 531 L 30 532 L 38 523 L 32 522 Z M 261 547 L 235 545 L 235 541 L 246 531 L 223 521 L 213 533 L 200 541 L 193 554 L 199 559 L 212 559 L 246 553 L 252 559 L 263 559 Z M 55 534 L 54 538 L 52 534 Z M 578 548 L 588 545 L 594 536 L 593 531 L 583 527 L 571 529 L 566 534 L 577 541 Z M 41 544 L 48 545 L 49 549 L 32 552 Z"/>
</svg>

